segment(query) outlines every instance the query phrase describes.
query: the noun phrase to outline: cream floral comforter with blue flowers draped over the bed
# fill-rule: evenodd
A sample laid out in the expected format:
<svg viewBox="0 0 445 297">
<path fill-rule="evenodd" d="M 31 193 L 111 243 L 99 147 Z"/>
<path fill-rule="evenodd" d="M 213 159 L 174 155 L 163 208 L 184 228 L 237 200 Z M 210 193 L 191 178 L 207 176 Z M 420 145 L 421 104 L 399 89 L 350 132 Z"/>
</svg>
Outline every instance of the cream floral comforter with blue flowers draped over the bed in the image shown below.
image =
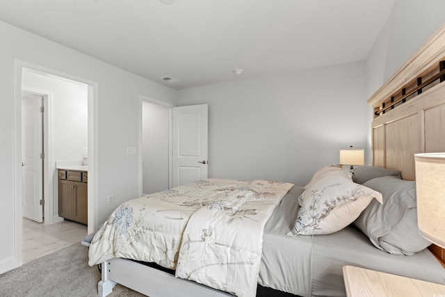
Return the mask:
<svg viewBox="0 0 445 297">
<path fill-rule="evenodd" d="M 255 296 L 264 225 L 293 184 L 207 179 L 121 204 L 92 239 L 89 264 L 155 262 L 176 276 Z"/>
</svg>

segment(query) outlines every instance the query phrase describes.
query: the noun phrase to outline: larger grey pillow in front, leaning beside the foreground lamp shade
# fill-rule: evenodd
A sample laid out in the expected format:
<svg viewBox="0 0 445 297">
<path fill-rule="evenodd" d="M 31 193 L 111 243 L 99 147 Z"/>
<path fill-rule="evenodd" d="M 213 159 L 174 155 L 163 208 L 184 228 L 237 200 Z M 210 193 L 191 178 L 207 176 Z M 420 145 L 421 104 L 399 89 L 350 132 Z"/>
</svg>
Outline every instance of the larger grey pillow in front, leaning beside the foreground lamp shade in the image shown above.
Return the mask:
<svg viewBox="0 0 445 297">
<path fill-rule="evenodd" d="M 371 201 L 354 222 L 374 246 L 395 255 L 414 255 L 430 246 L 418 232 L 416 182 L 378 177 L 364 186 L 383 195 L 383 204 Z"/>
</svg>

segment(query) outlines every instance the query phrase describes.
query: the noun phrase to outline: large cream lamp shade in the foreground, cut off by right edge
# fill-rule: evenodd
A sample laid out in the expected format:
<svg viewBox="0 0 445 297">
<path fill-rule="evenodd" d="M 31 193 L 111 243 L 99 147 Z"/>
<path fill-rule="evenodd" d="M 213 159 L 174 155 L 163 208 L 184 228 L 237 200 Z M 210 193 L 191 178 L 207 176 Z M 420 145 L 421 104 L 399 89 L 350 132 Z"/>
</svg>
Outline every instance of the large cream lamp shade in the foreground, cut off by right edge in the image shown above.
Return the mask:
<svg viewBox="0 0 445 297">
<path fill-rule="evenodd" d="M 445 248 L 445 153 L 414 154 L 414 161 L 419 232 Z"/>
</svg>

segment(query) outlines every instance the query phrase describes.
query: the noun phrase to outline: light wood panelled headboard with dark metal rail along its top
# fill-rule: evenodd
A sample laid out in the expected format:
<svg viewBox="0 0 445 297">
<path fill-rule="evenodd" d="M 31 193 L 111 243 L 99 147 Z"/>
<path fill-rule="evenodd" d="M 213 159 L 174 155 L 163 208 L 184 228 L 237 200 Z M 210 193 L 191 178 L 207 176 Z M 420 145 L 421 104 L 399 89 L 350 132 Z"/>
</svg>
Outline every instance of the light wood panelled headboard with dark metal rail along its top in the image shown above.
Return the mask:
<svg viewBox="0 0 445 297">
<path fill-rule="evenodd" d="M 415 180 L 414 154 L 445 152 L 444 61 L 445 25 L 368 100 L 374 166 Z M 445 266 L 445 250 L 434 245 L 430 250 Z"/>
</svg>

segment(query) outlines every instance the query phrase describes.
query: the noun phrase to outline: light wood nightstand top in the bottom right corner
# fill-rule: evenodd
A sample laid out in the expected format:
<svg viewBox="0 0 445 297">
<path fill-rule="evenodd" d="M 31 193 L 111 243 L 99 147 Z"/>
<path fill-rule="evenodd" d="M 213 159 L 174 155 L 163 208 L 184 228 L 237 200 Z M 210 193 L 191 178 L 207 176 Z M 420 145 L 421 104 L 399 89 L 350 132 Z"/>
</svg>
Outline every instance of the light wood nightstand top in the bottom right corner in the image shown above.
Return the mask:
<svg viewBox="0 0 445 297">
<path fill-rule="evenodd" d="M 355 266 L 343 266 L 348 297 L 445 297 L 445 285 Z"/>
</svg>

